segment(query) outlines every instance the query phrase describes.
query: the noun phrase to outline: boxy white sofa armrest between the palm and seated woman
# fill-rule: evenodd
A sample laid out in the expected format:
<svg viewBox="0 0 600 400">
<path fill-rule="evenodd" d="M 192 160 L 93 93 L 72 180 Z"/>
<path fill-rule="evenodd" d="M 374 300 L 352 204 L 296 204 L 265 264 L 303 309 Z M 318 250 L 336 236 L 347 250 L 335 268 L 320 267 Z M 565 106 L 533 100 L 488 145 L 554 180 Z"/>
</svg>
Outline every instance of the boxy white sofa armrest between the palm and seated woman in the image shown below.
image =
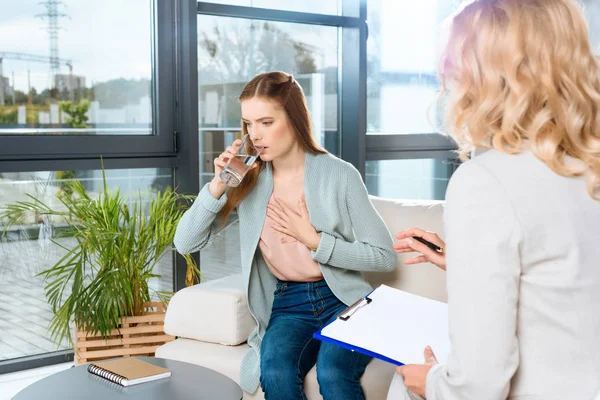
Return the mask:
<svg viewBox="0 0 600 400">
<path fill-rule="evenodd" d="M 165 316 L 169 335 L 224 345 L 244 343 L 255 326 L 241 274 L 181 289 Z"/>
</svg>

